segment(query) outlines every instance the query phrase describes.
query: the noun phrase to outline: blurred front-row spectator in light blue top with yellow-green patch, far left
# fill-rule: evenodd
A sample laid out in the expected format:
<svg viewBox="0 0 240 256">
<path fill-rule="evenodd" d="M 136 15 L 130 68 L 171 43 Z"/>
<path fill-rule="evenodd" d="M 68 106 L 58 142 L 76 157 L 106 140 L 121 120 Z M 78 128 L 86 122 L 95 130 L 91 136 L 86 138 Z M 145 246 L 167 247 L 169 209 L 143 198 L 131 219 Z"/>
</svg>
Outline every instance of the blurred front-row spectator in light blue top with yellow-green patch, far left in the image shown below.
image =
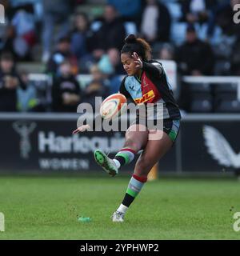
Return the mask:
<svg viewBox="0 0 240 256">
<path fill-rule="evenodd" d="M 22 112 L 35 111 L 38 108 L 37 90 L 28 78 L 25 70 L 19 72 L 22 82 L 26 84 L 26 90 L 18 88 L 18 110 Z"/>
</svg>

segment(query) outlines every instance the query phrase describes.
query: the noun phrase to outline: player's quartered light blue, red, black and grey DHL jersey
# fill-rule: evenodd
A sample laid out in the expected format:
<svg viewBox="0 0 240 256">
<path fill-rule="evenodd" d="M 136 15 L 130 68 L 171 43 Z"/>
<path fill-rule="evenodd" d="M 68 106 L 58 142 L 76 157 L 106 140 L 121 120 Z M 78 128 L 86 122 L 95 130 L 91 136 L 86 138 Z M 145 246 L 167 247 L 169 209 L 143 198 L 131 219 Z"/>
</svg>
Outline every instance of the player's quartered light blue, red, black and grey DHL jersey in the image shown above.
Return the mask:
<svg viewBox="0 0 240 256">
<path fill-rule="evenodd" d="M 119 92 L 138 106 L 154 103 L 151 105 L 154 107 L 155 113 L 159 112 L 157 108 L 161 106 L 163 113 L 160 115 L 163 119 L 181 118 L 173 91 L 160 62 L 154 60 L 142 62 L 141 78 L 126 75 L 122 80 Z M 154 114 L 155 118 L 159 118 L 159 114 Z"/>
</svg>

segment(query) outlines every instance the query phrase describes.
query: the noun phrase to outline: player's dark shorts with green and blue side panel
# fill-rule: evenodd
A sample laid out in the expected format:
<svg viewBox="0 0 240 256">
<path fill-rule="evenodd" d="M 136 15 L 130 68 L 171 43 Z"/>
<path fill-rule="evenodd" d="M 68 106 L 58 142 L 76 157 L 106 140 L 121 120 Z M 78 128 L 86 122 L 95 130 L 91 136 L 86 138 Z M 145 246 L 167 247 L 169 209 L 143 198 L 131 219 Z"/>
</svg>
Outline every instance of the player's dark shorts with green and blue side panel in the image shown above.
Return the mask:
<svg viewBox="0 0 240 256">
<path fill-rule="evenodd" d="M 168 118 L 162 120 L 152 120 L 152 122 L 146 122 L 146 119 L 139 118 L 139 116 L 137 115 L 135 121 L 131 123 L 131 125 L 134 124 L 141 124 L 143 126 L 146 126 L 148 130 L 163 130 L 166 134 L 168 134 L 172 142 L 176 141 L 180 129 L 180 119 L 173 120 Z"/>
</svg>

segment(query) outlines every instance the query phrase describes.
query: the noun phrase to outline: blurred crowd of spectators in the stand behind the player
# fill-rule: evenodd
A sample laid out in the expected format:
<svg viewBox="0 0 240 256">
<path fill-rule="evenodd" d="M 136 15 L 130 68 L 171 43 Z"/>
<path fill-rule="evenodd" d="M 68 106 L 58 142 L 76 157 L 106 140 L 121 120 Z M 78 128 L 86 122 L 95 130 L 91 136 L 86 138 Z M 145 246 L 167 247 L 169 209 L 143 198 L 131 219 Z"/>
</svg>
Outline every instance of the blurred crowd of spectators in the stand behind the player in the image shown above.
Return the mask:
<svg viewBox="0 0 240 256">
<path fill-rule="evenodd" d="M 80 102 L 94 105 L 95 96 L 117 92 L 127 34 L 146 38 L 153 58 L 174 60 L 180 75 L 240 75 L 240 25 L 233 22 L 240 0 L 106 0 L 94 17 L 82 11 L 88 0 L 0 2 L 0 111 L 76 112 Z M 39 100 L 18 62 L 44 64 L 50 102 Z M 92 79 L 82 86 L 78 74 Z"/>
</svg>

